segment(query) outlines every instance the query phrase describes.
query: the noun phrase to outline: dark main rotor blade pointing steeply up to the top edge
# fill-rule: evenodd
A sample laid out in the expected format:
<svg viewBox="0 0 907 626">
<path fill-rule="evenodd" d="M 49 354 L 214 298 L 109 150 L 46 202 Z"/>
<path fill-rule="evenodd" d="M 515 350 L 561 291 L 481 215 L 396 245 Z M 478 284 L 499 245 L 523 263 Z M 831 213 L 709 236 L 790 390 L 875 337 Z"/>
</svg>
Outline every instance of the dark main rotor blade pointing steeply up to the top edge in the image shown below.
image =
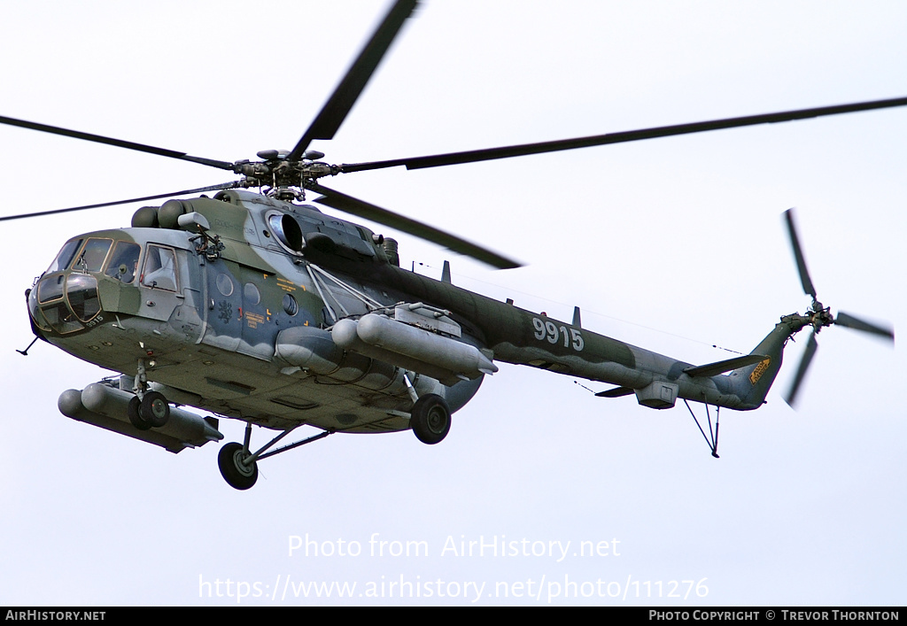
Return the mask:
<svg viewBox="0 0 907 626">
<path fill-rule="evenodd" d="M 327 103 L 318 112 L 317 117 L 297 142 L 293 151 L 289 153 L 289 161 L 301 159 L 302 153 L 306 152 L 308 144 L 313 139 L 332 139 L 334 137 L 334 133 L 346 119 L 346 114 L 353 108 L 359 94 L 366 88 L 368 79 L 372 77 L 372 73 L 375 73 L 375 68 L 381 63 L 387 49 L 394 42 L 394 38 L 406 18 L 413 13 L 416 4 L 417 0 L 396 0 L 366 47 L 362 49 L 362 52 L 356 57 L 356 61 L 347 70 L 343 80 L 336 86 L 334 93 L 327 99 Z"/>
</svg>

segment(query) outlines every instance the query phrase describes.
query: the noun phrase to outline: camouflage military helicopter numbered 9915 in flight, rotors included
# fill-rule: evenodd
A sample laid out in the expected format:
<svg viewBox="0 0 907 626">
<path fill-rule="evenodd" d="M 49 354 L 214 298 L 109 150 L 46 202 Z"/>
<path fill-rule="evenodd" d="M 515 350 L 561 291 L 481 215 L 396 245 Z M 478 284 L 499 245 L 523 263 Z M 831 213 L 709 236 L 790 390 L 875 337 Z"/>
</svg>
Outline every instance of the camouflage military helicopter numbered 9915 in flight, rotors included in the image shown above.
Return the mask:
<svg viewBox="0 0 907 626">
<path fill-rule="evenodd" d="M 632 142 L 691 132 L 902 106 L 907 98 L 768 113 L 471 152 L 332 165 L 309 150 L 331 139 L 365 88 L 415 0 L 397 0 L 293 150 L 258 161 L 216 161 L 35 122 L 0 122 L 231 171 L 239 181 L 66 212 L 216 191 L 142 207 L 132 228 L 73 237 L 26 291 L 37 338 L 119 372 L 64 391 L 64 415 L 160 445 L 171 452 L 223 438 L 218 421 L 182 406 L 247 423 L 243 443 L 223 445 L 227 482 L 248 489 L 258 461 L 333 433 L 412 429 L 426 444 L 444 439 L 453 412 L 478 391 L 495 361 L 609 383 L 599 396 L 635 395 L 668 408 L 678 398 L 735 410 L 765 402 L 787 340 L 813 332 L 787 400 L 794 402 L 816 349 L 815 334 L 839 325 L 893 338 L 888 328 L 838 313 L 816 298 L 790 212 L 787 226 L 804 290 L 805 314 L 780 322 L 751 354 L 695 366 L 571 323 L 485 298 L 402 269 L 394 240 L 305 204 L 383 223 L 497 268 L 517 263 L 492 250 L 329 189 L 320 179 L 405 165 L 408 169 Z M 261 192 L 247 191 L 259 188 Z M 29 217 L 9 216 L 0 220 Z M 26 349 L 27 352 L 27 349 Z M 688 405 L 689 406 L 689 405 Z M 251 446 L 252 425 L 278 431 Z M 301 425 L 318 435 L 272 449 Z M 705 435 L 705 433 L 703 433 Z M 717 421 L 707 441 L 717 456 Z"/>
</svg>

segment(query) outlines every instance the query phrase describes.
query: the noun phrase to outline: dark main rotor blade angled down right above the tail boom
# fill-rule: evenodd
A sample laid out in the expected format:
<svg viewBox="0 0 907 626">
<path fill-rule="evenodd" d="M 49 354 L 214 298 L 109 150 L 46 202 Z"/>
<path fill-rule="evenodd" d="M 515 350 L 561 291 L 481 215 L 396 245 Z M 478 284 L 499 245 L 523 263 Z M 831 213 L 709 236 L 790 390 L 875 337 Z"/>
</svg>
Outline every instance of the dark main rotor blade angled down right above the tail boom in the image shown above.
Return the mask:
<svg viewBox="0 0 907 626">
<path fill-rule="evenodd" d="M 327 189 L 327 187 L 318 184 L 312 185 L 310 189 L 322 194 L 322 197 L 316 199 L 316 202 L 320 204 L 333 207 L 337 210 L 346 211 L 351 215 L 356 215 L 357 217 L 366 220 L 384 224 L 392 229 L 402 230 L 403 232 L 415 235 L 416 237 L 427 241 L 432 241 L 447 249 L 452 249 L 454 252 L 459 252 L 467 257 L 481 260 L 483 263 L 488 263 L 497 269 L 513 269 L 521 266 L 520 263 L 502 257 L 500 254 L 493 252 L 490 249 L 485 249 L 470 241 L 462 240 L 449 232 L 438 230 L 421 221 L 407 218 L 394 211 L 382 209 L 381 207 L 369 204 L 366 201 L 347 196 L 345 193 Z"/>
</svg>

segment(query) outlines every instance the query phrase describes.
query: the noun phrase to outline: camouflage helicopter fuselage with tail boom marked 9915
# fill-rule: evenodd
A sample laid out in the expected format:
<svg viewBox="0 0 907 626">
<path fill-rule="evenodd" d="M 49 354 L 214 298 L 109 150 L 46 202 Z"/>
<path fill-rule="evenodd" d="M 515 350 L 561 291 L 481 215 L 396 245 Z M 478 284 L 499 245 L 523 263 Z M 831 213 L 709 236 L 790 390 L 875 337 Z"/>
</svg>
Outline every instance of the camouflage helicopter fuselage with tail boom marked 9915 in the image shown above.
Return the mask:
<svg viewBox="0 0 907 626">
<path fill-rule="evenodd" d="M 401 269 L 380 237 L 314 207 L 216 198 L 169 201 L 132 228 L 66 242 L 29 292 L 35 333 L 126 376 L 141 362 L 172 402 L 278 429 L 403 430 L 410 384 L 455 411 L 491 359 L 626 387 L 655 408 L 685 397 L 749 409 L 764 397 L 745 380 L 756 366 L 691 377 L 690 364 Z M 206 229 L 180 227 L 190 213 Z M 415 317 L 394 319 L 401 303 Z M 423 352 L 338 348 L 337 322 L 369 313 Z M 441 353 L 461 347 L 485 365 L 449 365 Z M 771 378 L 780 350 L 774 358 Z"/>
</svg>

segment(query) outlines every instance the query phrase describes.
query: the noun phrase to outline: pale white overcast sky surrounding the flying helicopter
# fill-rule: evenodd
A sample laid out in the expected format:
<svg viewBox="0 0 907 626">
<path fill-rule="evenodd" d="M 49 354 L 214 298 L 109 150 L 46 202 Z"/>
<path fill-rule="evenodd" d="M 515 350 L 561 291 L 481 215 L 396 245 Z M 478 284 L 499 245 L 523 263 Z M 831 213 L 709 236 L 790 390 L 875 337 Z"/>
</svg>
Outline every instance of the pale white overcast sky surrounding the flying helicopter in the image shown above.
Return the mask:
<svg viewBox="0 0 907 626">
<path fill-rule="evenodd" d="M 385 5 L 9 3 L 0 115 L 254 158 L 297 142 Z M 898 2 L 430 0 L 336 140 L 312 147 L 374 161 L 903 96 L 905 29 Z M 327 184 L 527 263 L 488 271 L 399 236 L 406 265 L 438 275 L 451 259 L 468 289 L 561 319 L 580 305 L 586 328 L 707 363 L 732 356 L 713 344 L 748 352 L 808 305 L 781 221 L 791 206 L 819 298 L 907 328 L 905 144 L 902 109 Z M 3 214 L 230 180 L 12 127 L 0 145 Z M 63 241 L 128 226 L 133 210 L 0 227 L 0 604 L 230 604 L 200 598 L 200 577 L 270 594 L 278 575 L 356 582 L 342 602 L 363 604 L 469 604 L 464 582 L 485 583 L 482 603 L 544 604 L 565 577 L 629 592 L 554 603 L 903 603 L 902 347 L 825 329 L 795 413 L 781 394 L 802 334 L 767 406 L 722 414 L 720 460 L 682 405 L 656 412 L 502 365 L 441 445 L 329 437 L 263 462 L 240 493 L 219 475 L 218 445 L 171 455 L 62 416 L 57 396 L 102 370 L 46 344 L 14 351 L 31 340 L 23 291 Z M 220 429 L 237 441 L 243 424 Z M 253 444 L 265 441 L 257 430 Z M 363 553 L 288 557 L 288 536 L 306 533 Z M 372 557 L 373 533 L 430 554 Z M 569 556 L 441 554 L 449 536 L 501 535 L 571 542 Z M 615 538 L 619 556 L 573 556 Z M 445 595 L 456 582 L 461 597 L 359 596 L 401 577 L 435 593 L 441 581 Z M 658 597 L 659 581 L 667 596 L 671 581 L 702 579 L 704 598 Z M 540 599 L 530 581 L 532 593 L 545 582 Z M 494 597 L 496 582 L 522 582 L 523 596 Z M 341 602 L 291 595 L 243 603 Z"/>
</svg>

